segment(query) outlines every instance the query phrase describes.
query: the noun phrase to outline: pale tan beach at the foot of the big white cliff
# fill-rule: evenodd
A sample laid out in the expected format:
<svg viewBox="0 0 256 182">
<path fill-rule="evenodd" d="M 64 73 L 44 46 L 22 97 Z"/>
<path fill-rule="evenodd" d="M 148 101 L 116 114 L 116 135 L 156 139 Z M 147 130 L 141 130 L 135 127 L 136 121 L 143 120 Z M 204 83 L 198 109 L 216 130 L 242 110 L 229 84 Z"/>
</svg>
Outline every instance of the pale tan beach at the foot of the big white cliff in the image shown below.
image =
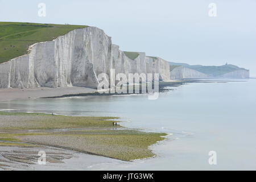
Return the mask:
<svg viewBox="0 0 256 182">
<path fill-rule="evenodd" d="M 22 100 L 22 99 L 32 99 L 40 97 L 57 97 L 63 96 L 65 94 L 80 94 L 80 93 L 91 93 L 95 92 L 96 89 L 85 88 L 85 87 L 61 87 L 61 88 L 32 88 L 32 89 L 19 89 L 19 88 L 9 88 L 0 89 L 0 101 L 7 100 Z"/>
</svg>

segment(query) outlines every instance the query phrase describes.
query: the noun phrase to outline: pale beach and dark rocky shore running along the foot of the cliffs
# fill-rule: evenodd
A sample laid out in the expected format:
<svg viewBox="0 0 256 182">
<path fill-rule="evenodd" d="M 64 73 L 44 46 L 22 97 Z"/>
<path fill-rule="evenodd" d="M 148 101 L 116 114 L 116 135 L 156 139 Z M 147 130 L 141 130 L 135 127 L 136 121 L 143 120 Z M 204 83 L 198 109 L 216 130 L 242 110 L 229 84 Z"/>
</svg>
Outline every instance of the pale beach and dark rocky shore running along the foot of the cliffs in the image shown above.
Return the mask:
<svg viewBox="0 0 256 182">
<path fill-rule="evenodd" d="M 196 82 L 232 82 L 236 80 L 201 80 L 201 79 L 183 79 L 175 80 L 170 82 L 159 82 L 159 93 L 167 92 L 172 89 L 168 87 L 176 87 L 189 83 Z M 154 85 L 153 85 L 154 86 Z M 48 88 L 48 87 L 39 87 L 39 88 L 8 88 L 0 89 L 0 102 L 1 101 L 11 101 L 11 100 L 26 100 L 26 99 L 36 99 L 36 98 L 64 98 L 64 97 L 76 97 L 76 96 L 125 96 L 135 94 L 133 93 L 98 93 L 97 89 L 72 86 L 72 87 L 60 87 L 60 88 Z M 141 90 L 140 93 L 142 94 Z M 147 94 L 147 93 L 146 93 Z"/>
</svg>

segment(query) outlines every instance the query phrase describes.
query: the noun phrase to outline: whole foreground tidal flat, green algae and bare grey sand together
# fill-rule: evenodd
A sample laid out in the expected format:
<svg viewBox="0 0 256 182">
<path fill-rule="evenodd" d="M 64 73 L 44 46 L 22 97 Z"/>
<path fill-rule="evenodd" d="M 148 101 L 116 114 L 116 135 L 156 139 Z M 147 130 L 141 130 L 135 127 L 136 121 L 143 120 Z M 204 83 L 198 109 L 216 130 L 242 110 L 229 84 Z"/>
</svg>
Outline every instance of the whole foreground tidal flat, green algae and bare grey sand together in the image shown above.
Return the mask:
<svg viewBox="0 0 256 182">
<path fill-rule="evenodd" d="M 155 156 L 163 133 L 113 126 L 111 117 L 0 112 L 0 170 L 90 170 Z M 39 165 L 39 151 L 47 165 Z"/>
</svg>

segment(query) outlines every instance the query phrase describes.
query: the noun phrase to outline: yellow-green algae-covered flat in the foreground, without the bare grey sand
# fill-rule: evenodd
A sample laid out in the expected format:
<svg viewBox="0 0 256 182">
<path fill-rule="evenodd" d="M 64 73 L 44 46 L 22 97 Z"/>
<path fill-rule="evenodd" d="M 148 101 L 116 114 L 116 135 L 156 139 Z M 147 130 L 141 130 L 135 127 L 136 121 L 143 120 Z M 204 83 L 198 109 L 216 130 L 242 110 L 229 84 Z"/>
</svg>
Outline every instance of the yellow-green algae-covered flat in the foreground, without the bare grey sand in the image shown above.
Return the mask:
<svg viewBox="0 0 256 182">
<path fill-rule="evenodd" d="M 116 119 L 0 112 L 0 146 L 42 144 L 125 161 L 155 155 L 148 147 L 166 134 L 115 127 Z"/>
</svg>

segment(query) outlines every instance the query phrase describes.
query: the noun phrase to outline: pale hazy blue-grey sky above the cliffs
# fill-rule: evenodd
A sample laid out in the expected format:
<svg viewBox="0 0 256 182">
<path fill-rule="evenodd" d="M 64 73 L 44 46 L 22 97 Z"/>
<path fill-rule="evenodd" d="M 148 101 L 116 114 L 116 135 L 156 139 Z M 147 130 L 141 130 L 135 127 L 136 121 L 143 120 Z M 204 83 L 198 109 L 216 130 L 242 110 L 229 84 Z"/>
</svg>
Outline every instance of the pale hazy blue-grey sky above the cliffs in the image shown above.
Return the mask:
<svg viewBox="0 0 256 182">
<path fill-rule="evenodd" d="M 46 17 L 38 4 L 46 4 Z M 217 6 L 210 17 L 209 4 Z M 236 64 L 256 77 L 255 0 L 0 0 L 0 21 L 102 28 L 123 51 L 188 64 Z"/>
</svg>

